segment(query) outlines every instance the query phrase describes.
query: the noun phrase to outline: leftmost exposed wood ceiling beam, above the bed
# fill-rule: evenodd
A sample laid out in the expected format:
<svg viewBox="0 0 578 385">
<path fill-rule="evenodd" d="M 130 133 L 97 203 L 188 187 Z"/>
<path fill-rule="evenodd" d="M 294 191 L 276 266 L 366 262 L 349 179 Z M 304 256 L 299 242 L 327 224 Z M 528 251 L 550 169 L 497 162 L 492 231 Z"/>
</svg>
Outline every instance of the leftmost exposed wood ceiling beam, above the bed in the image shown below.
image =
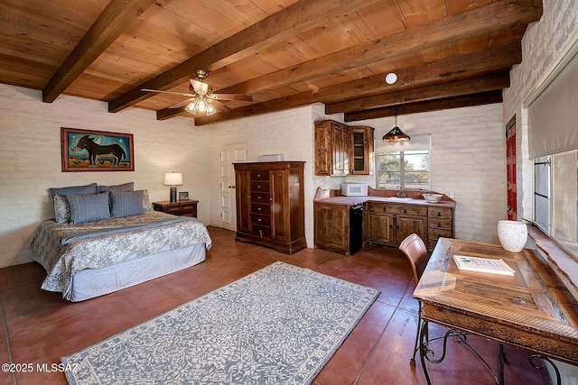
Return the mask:
<svg viewBox="0 0 578 385">
<path fill-rule="evenodd" d="M 61 95 L 154 2 L 112 0 L 42 89 L 42 101 L 51 103 Z"/>
</svg>

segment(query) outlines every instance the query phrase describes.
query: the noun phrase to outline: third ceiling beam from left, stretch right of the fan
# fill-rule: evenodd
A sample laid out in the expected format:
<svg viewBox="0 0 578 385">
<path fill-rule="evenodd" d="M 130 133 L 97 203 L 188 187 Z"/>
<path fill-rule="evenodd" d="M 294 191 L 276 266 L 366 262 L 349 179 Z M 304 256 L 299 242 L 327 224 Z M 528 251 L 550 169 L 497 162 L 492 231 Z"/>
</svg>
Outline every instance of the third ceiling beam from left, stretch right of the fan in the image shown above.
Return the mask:
<svg viewBox="0 0 578 385">
<path fill-rule="evenodd" d="M 526 3 L 523 0 L 499 1 L 471 11 L 452 14 L 431 23 L 418 25 L 375 41 L 368 41 L 315 60 L 247 80 L 233 87 L 220 89 L 219 92 L 255 94 L 265 89 L 290 86 L 297 82 L 390 59 L 415 50 L 423 50 L 443 43 L 464 40 L 480 34 L 535 22 L 542 15 L 542 7 L 527 5 Z"/>
</svg>

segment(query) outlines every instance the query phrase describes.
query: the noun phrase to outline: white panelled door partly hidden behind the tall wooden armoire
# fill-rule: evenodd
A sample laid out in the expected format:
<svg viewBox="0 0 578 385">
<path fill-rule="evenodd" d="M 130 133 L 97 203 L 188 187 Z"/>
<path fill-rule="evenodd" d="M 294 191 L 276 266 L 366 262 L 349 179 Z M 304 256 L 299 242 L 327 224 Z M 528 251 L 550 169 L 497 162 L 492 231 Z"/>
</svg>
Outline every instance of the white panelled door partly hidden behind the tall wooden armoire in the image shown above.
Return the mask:
<svg viewBox="0 0 578 385">
<path fill-rule="evenodd" d="M 237 230 L 235 168 L 233 162 L 247 160 L 247 143 L 227 144 L 220 150 L 220 220 L 221 227 Z"/>
</svg>

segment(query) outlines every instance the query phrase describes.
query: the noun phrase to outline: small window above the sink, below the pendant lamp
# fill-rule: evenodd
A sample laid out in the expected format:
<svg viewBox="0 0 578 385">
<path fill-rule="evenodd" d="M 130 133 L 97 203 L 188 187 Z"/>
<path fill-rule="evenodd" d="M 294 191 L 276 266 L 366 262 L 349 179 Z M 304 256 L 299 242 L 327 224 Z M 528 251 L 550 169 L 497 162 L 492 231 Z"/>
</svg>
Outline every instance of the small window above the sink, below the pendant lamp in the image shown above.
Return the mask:
<svg viewBox="0 0 578 385">
<path fill-rule="evenodd" d="M 377 188 L 430 190 L 430 151 L 381 151 L 376 154 Z"/>
</svg>

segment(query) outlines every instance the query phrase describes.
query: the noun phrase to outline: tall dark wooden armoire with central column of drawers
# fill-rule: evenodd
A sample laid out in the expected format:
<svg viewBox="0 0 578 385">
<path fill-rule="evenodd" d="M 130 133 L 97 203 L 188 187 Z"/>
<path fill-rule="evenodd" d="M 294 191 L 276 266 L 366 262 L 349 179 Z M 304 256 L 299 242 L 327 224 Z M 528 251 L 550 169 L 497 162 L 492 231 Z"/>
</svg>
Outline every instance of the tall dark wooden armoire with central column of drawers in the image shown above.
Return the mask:
<svg viewBox="0 0 578 385">
<path fill-rule="evenodd" d="M 237 241 L 293 254 L 305 247 L 304 161 L 235 163 Z"/>
</svg>

